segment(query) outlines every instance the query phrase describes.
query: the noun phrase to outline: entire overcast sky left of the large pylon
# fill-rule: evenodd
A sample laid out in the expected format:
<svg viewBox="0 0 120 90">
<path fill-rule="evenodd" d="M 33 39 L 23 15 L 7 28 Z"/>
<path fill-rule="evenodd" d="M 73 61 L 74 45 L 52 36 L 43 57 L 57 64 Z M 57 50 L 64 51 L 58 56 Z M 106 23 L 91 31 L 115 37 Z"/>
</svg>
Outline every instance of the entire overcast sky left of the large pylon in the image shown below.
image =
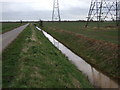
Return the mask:
<svg viewBox="0 0 120 90">
<path fill-rule="evenodd" d="M 59 0 L 62 20 L 86 19 L 91 0 Z M 2 20 L 51 20 L 53 0 L 2 0 Z"/>
</svg>

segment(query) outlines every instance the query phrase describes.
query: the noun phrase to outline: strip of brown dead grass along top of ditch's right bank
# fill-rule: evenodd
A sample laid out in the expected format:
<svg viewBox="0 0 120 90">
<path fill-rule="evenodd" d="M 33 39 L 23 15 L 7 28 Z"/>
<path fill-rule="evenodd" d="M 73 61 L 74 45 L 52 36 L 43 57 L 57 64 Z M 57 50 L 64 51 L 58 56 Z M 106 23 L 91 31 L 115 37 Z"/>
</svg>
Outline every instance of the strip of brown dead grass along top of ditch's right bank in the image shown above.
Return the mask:
<svg viewBox="0 0 120 90">
<path fill-rule="evenodd" d="M 90 49 L 101 52 L 101 54 L 103 54 L 102 53 L 103 49 L 106 49 L 107 51 L 110 51 L 110 52 L 114 52 L 113 55 L 111 55 L 111 56 L 106 56 L 104 54 L 104 56 L 108 60 L 111 59 L 111 58 L 117 58 L 118 57 L 118 54 L 117 54 L 118 45 L 117 44 L 105 42 L 105 41 L 102 41 L 102 40 L 96 40 L 96 39 L 93 39 L 93 38 L 88 38 L 88 37 L 82 36 L 82 35 L 80 35 L 78 33 L 65 31 L 65 30 L 56 30 L 56 32 L 68 33 L 68 34 L 71 34 L 71 35 L 75 36 L 76 38 L 79 38 L 80 40 L 82 39 L 84 41 L 87 41 L 87 43 L 89 43 Z"/>
</svg>

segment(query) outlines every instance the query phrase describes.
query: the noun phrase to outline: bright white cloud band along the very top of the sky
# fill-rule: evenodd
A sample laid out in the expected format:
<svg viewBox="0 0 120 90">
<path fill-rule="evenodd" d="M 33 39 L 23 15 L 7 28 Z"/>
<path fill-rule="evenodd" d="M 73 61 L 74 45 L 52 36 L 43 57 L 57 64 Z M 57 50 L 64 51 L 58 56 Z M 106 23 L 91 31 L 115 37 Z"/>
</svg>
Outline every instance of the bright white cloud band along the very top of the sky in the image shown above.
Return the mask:
<svg viewBox="0 0 120 90">
<path fill-rule="evenodd" d="M 32 8 L 36 10 L 47 9 L 51 10 L 53 8 L 54 0 L 2 0 L 1 2 L 7 3 L 28 3 Z M 60 9 L 69 9 L 72 7 L 87 8 L 90 5 L 90 0 L 59 0 Z M 25 7 L 25 5 L 24 5 Z M 18 7 L 17 7 L 18 8 Z"/>
</svg>

